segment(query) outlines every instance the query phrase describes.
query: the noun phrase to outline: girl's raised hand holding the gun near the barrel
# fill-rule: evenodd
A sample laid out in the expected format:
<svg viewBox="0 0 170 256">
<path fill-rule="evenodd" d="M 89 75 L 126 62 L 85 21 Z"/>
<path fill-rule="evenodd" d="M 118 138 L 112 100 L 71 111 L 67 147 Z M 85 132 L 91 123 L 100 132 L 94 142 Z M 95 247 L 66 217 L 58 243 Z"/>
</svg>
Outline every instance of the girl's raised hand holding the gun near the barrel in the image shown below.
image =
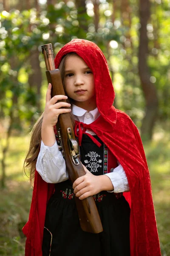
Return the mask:
<svg viewBox="0 0 170 256">
<path fill-rule="evenodd" d="M 57 102 L 62 99 L 67 99 L 68 97 L 65 95 L 56 95 L 51 98 L 51 84 L 48 84 L 48 89 L 46 93 L 46 102 L 45 102 L 45 110 L 42 121 L 42 126 L 45 127 L 54 127 L 58 121 L 59 114 L 69 113 L 71 109 L 69 108 L 71 105 L 67 102 Z M 67 108 L 61 108 L 67 107 Z"/>
</svg>

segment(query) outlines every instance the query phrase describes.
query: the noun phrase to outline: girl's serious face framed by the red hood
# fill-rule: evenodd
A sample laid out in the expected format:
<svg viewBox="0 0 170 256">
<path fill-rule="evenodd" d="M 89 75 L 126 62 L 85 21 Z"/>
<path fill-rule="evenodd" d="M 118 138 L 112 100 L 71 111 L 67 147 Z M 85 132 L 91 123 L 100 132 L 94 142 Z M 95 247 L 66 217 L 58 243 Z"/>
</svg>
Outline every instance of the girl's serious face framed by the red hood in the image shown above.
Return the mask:
<svg viewBox="0 0 170 256">
<path fill-rule="evenodd" d="M 78 55 L 65 60 L 65 90 L 78 107 L 88 111 L 96 108 L 93 73 Z"/>
</svg>

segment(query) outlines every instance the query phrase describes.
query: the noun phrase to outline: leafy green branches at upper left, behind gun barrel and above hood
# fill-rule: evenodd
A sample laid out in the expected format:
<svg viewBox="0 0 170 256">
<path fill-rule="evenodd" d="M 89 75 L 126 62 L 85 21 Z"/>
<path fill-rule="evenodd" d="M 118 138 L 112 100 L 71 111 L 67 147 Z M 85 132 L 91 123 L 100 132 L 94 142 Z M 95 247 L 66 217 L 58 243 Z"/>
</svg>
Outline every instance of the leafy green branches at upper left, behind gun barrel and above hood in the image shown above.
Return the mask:
<svg viewBox="0 0 170 256">
<path fill-rule="evenodd" d="M 119 41 L 125 30 L 123 27 L 114 29 L 113 23 L 106 19 L 100 32 L 95 32 L 93 19 L 87 13 L 77 17 L 75 6 L 68 7 L 62 2 L 48 6 L 48 12 L 43 10 L 39 15 L 34 9 L 23 12 L 13 9 L 9 13 L 3 11 L 0 20 L 0 113 L 4 118 L 11 109 L 16 108 L 17 122 L 18 119 L 22 122 L 31 122 L 34 113 L 38 111 L 37 89 L 30 88 L 28 84 L 28 74 L 32 72 L 29 64 L 31 51 L 36 48 L 40 50 L 40 61 L 43 66 L 40 49 L 42 44 L 50 41 L 54 45 L 54 50 L 55 47 L 58 50 L 73 38 L 87 38 L 98 43 L 105 52 L 108 42 Z M 82 20 L 86 21 L 89 32 L 83 28 L 82 23 L 79 23 Z"/>
</svg>

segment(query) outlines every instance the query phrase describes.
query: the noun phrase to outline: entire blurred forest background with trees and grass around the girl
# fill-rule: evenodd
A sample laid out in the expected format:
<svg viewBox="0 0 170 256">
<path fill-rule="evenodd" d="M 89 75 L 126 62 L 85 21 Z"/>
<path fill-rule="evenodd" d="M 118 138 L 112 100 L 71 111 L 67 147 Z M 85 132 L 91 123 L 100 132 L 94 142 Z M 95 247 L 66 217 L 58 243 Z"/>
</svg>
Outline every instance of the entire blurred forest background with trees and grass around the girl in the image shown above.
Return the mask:
<svg viewBox="0 0 170 256">
<path fill-rule="evenodd" d="M 139 128 L 163 256 L 170 255 L 170 0 L 0 1 L 0 255 L 23 256 L 32 188 L 23 172 L 45 105 L 41 45 L 54 55 L 73 38 L 107 58 L 114 106 Z"/>
</svg>

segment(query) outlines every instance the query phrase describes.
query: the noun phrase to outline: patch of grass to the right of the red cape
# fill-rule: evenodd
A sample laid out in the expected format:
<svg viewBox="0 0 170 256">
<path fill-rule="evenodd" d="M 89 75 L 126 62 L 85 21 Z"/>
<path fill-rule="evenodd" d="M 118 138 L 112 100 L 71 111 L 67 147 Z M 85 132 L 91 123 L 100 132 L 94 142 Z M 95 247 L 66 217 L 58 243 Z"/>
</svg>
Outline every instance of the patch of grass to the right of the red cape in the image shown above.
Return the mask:
<svg viewBox="0 0 170 256">
<path fill-rule="evenodd" d="M 153 202 L 162 256 L 170 256 L 170 140 L 144 145 L 153 191 Z"/>
</svg>

